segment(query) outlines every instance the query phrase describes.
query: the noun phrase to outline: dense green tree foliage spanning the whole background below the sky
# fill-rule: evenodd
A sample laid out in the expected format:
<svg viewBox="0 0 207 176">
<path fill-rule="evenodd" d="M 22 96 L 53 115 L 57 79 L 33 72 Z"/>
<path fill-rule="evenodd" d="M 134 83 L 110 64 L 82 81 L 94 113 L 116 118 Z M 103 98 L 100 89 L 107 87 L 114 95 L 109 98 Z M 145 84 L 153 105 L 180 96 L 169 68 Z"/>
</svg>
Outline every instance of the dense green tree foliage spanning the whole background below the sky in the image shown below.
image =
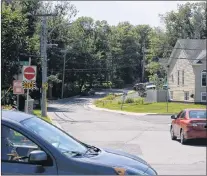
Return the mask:
<svg viewBox="0 0 207 176">
<path fill-rule="evenodd" d="M 65 96 L 86 87 L 104 85 L 122 87 L 143 81 L 164 80 L 165 68 L 159 58 L 169 56 L 178 38 L 206 38 L 206 3 L 186 3 L 177 11 L 160 15 L 166 30 L 149 25 L 107 21 L 81 17 L 70 2 L 23 0 L 2 4 L 2 85 L 12 84 L 19 72 L 21 53 L 32 54 L 38 67 L 37 85 L 41 85 L 40 26 L 41 12 L 57 12 L 48 17 L 48 41 L 58 47 L 48 48 L 48 78 L 53 96 L 60 96 L 63 57 L 66 54 Z M 69 24 L 71 23 L 71 24 Z M 145 48 L 145 49 L 144 49 Z M 64 51 L 64 52 L 63 52 Z M 145 55 L 145 57 L 143 57 Z M 145 58 L 145 59 L 143 59 Z M 145 66 L 145 72 L 142 72 Z"/>
</svg>

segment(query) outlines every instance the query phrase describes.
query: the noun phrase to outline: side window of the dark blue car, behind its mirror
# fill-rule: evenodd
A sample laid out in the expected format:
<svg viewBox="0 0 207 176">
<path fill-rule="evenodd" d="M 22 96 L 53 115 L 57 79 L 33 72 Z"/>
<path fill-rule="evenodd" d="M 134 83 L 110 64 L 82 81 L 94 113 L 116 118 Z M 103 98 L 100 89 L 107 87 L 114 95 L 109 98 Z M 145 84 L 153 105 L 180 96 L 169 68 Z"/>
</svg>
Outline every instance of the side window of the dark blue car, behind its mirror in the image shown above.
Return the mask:
<svg viewBox="0 0 207 176">
<path fill-rule="evenodd" d="M 30 164 L 28 160 L 30 152 L 41 150 L 40 147 L 30 139 L 4 125 L 2 125 L 1 148 L 1 160 L 27 164 Z M 49 156 L 48 158 L 46 165 L 52 165 L 51 158 Z"/>
</svg>

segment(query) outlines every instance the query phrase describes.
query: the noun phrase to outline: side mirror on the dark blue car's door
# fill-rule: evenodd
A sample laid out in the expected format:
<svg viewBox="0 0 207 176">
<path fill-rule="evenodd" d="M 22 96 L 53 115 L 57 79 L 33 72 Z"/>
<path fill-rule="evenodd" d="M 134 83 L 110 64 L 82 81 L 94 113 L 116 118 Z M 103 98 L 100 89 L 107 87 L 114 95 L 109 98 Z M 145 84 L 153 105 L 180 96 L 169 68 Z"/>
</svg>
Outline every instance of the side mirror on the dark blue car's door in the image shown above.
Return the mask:
<svg viewBox="0 0 207 176">
<path fill-rule="evenodd" d="M 29 162 L 41 163 L 47 160 L 47 154 L 41 150 L 34 150 L 29 154 Z"/>
</svg>

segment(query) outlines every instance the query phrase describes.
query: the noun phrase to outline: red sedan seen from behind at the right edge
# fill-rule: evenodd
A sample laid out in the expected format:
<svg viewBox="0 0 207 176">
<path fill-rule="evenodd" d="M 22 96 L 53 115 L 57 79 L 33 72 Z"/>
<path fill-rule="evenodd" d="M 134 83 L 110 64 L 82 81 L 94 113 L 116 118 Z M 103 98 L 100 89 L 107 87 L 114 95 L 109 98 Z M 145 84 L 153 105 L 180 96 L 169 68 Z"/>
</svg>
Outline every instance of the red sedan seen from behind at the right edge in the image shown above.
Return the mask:
<svg viewBox="0 0 207 176">
<path fill-rule="evenodd" d="M 189 139 L 207 139 L 206 109 L 185 109 L 171 116 L 171 139 L 185 144 Z"/>
</svg>

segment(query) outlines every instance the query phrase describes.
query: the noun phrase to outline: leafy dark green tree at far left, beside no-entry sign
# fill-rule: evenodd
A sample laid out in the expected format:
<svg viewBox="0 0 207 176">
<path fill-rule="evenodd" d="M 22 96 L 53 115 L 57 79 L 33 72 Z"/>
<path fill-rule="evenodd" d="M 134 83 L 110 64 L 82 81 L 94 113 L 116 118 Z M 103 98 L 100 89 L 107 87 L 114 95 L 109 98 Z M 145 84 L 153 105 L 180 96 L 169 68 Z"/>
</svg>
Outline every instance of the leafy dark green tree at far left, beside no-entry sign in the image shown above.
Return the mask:
<svg viewBox="0 0 207 176">
<path fill-rule="evenodd" d="M 27 52 L 27 22 L 21 9 L 2 3 L 2 83 L 12 84 L 13 76 L 19 72 L 18 57 L 20 52 Z"/>
</svg>

